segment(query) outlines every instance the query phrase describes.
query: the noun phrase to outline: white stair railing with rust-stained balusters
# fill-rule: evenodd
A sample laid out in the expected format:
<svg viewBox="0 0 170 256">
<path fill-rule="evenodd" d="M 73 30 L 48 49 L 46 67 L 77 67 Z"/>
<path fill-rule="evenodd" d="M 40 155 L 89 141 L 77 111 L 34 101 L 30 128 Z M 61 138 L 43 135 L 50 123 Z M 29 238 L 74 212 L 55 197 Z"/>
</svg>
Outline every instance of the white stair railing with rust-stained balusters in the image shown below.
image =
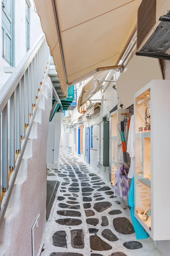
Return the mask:
<svg viewBox="0 0 170 256">
<path fill-rule="evenodd" d="M 50 66 L 41 35 L 0 90 L 0 225 L 8 206 Z M 8 68 L 8 71 L 10 72 Z"/>
</svg>

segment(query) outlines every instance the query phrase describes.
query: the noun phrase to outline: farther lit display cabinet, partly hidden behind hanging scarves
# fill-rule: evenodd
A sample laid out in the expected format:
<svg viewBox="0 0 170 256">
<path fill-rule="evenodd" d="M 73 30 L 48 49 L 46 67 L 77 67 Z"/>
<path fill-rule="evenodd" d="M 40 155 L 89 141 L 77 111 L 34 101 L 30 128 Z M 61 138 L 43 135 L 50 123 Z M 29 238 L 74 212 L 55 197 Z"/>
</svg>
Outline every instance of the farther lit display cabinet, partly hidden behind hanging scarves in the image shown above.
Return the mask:
<svg viewBox="0 0 170 256">
<path fill-rule="evenodd" d="M 116 125 L 118 122 L 123 121 L 126 115 L 129 115 L 129 110 L 121 108 L 112 112 L 110 117 L 110 180 L 113 186 L 116 170 L 122 166 L 122 164 L 117 161 L 118 146 Z"/>
</svg>

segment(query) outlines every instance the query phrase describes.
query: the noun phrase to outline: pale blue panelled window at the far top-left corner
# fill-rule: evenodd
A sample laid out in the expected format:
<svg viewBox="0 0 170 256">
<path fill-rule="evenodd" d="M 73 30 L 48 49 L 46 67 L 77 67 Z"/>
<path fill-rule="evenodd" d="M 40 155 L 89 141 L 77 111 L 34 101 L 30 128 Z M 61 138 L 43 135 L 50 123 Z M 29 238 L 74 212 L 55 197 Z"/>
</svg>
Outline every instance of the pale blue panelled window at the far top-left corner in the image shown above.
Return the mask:
<svg viewBox="0 0 170 256">
<path fill-rule="evenodd" d="M 2 56 L 13 65 L 13 0 L 2 0 Z"/>
</svg>

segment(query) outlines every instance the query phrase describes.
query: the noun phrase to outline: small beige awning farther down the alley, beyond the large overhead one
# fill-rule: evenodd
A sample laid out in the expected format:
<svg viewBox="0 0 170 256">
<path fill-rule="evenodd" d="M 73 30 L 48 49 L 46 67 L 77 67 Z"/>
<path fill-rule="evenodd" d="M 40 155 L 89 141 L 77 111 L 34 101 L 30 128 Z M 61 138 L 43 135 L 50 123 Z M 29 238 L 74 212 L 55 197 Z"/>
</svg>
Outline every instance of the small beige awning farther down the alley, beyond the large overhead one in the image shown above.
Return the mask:
<svg viewBox="0 0 170 256">
<path fill-rule="evenodd" d="M 85 84 L 79 96 L 78 105 L 77 105 L 78 110 L 83 104 L 85 104 L 85 102 L 87 102 L 89 99 L 91 99 L 91 97 L 93 97 L 91 92 L 95 88 L 94 79 L 105 79 L 109 72 L 110 70 L 101 72 L 96 76 L 94 76 L 87 84 Z M 103 84 L 103 82 L 100 82 L 100 84 Z"/>
</svg>

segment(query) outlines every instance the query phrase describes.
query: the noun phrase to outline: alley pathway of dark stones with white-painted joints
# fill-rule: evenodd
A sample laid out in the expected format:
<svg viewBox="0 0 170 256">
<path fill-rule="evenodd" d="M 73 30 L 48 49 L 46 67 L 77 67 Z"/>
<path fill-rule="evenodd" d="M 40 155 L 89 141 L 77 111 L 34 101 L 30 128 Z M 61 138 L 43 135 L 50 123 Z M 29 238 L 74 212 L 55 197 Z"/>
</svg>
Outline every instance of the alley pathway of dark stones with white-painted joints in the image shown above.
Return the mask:
<svg viewBox="0 0 170 256">
<path fill-rule="evenodd" d="M 129 209 L 108 181 L 74 155 L 62 151 L 51 215 L 45 224 L 42 256 L 160 256 L 150 239 L 137 241 Z"/>
</svg>

